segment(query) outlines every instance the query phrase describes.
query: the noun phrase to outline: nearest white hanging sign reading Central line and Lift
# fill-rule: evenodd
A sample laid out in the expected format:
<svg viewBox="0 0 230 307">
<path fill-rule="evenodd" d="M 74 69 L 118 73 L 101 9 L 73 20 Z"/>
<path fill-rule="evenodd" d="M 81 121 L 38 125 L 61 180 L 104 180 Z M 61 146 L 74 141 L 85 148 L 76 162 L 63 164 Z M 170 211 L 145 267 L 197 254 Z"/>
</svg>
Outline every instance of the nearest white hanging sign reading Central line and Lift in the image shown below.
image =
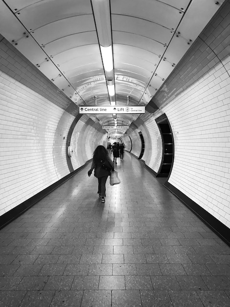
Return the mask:
<svg viewBox="0 0 230 307">
<path fill-rule="evenodd" d="M 134 106 L 92 106 L 92 105 L 80 105 L 80 114 L 141 114 L 145 113 L 144 105 L 134 105 Z"/>
</svg>

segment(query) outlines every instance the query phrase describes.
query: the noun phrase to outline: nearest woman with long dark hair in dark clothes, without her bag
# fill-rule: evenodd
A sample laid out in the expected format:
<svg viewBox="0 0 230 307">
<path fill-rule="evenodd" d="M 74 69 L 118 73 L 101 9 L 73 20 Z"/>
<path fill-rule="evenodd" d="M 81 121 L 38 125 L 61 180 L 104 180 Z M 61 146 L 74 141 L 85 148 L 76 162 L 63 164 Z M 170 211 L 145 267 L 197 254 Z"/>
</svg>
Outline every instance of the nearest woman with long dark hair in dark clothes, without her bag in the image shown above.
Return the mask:
<svg viewBox="0 0 230 307">
<path fill-rule="evenodd" d="M 105 191 L 106 191 L 106 180 L 111 173 L 111 170 L 114 171 L 114 164 L 111 158 L 109 157 L 108 151 L 104 146 L 99 145 L 95 149 L 92 157 L 91 169 L 88 172 L 90 177 L 92 170 L 94 169 L 94 176 L 98 179 L 98 191 L 101 202 L 105 202 Z"/>
</svg>

